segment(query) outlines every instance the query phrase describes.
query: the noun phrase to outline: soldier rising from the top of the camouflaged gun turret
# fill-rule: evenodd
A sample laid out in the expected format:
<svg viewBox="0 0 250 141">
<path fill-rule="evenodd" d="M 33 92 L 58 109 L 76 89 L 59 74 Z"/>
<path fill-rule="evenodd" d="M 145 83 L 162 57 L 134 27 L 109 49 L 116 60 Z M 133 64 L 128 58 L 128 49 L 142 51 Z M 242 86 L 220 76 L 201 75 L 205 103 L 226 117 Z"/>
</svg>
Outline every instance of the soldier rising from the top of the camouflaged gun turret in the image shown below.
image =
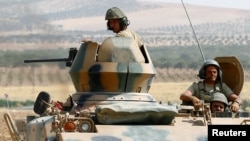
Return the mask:
<svg viewBox="0 0 250 141">
<path fill-rule="evenodd" d="M 140 37 L 127 27 L 130 24 L 127 16 L 117 7 L 112 7 L 107 10 L 105 20 L 107 20 L 107 29 L 116 33 L 117 37 L 131 37 L 138 47 L 142 46 Z"/>
</svg>

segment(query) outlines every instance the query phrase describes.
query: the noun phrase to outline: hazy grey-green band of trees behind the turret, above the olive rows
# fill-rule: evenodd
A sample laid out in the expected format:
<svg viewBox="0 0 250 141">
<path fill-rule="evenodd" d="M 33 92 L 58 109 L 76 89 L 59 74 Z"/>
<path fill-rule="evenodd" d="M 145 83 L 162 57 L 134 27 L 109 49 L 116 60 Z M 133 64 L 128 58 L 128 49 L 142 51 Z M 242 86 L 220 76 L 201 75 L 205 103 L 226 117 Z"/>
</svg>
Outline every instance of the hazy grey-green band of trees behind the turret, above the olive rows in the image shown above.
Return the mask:
<svg viewBox="0 0 250 141">
<path fill-rule="evenodd" d="M 158 68 L 198 69 L 204 58 L 213 59 L 218 56 L 236 56 L 242 63 L 244 69 L 250 69 L 248 46 L 169 46 L 169 47 L 147 47 L 149 55 Z M 33 50 L 5 50 L 0 52 L 0 67 L 23 67 L 40 66 L 50 63 L 25 64 L 28 59 L 53 59 L 67 58 L 69 49 L 33 49 Z M 204 55 L 204 56 L 203 56 Z M 62 62 L 57 62 L 61 68 L 65 67 Z"/>
</svg>

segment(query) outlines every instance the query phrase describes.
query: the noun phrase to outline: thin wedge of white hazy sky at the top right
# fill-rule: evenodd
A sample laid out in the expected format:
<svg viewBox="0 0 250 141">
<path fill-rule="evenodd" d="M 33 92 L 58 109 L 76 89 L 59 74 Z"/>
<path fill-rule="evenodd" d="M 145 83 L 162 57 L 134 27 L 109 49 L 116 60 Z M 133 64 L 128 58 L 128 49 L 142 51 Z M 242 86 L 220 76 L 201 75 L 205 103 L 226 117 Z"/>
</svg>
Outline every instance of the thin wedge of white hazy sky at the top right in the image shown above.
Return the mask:
<svg viewBox="0 0 250 141">
<path fill-rule="evenodd" d="M 141 0 L 180 3 L 181 0 Z M 184 3 L 250 10 L 250 0 L 183 0 Z"/>
</svg>

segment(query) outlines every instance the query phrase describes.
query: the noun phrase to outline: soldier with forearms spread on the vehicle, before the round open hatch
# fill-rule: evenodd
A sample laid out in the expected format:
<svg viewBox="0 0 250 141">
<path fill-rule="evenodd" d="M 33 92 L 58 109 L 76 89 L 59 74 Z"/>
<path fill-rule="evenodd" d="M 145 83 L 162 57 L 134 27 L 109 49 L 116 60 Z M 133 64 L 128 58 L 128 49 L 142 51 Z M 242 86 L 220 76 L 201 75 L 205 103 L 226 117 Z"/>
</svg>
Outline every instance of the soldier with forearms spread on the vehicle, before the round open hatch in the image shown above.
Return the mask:
<svg viewBox="0 0 250 141">
<path fill-rule="evenodd" d="M 180 99 L 183 101 L 183 104 L 188 103 L 199 108 L 202 105 L 201 100 L 204 100 L 205 103 L 209 103 L 211 96 L 216 92 L 220 92 L 232 103 L 231 111 L 239 111 L 242 101 L 239 96 L 222 81 L 222 72 L 217 61 L 206 60 L 199 70 L 198 76 L 201 80 L 199 82 L 193 82 L 193 84 L 181 94 Z"/>
</svg>

